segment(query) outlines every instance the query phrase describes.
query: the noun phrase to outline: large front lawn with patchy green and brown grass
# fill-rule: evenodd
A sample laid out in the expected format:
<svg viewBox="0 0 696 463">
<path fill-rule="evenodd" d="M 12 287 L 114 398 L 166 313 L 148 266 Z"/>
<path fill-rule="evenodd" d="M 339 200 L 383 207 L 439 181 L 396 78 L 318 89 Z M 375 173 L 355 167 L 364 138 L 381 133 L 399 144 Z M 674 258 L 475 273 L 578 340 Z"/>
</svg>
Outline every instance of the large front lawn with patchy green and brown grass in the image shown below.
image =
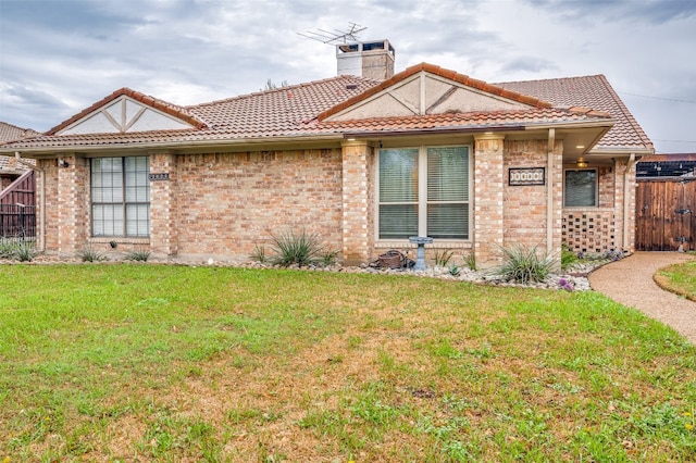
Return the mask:
<svg viewBox="0 0 696 463">
<path fill-rule="evenodd" d="M 594 292 L 3 265 L 0 461 L 693 461 L 695 354 Z"/>
</svg>

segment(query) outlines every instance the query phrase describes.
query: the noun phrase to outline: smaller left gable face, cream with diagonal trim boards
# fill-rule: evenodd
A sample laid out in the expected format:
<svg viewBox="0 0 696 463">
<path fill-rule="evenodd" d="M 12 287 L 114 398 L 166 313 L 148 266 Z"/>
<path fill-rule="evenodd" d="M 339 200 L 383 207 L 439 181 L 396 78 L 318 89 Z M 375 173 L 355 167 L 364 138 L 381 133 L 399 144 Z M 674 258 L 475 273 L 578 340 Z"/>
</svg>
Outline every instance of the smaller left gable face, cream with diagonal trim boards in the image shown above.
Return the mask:
<svg viewBox="0 0 696 463">
<path fill-rule="evenodd" d="M 57 135 L 124 134 L 182 128 L 192 126 L 124 95 L 77 120 Z"/>
</svg>

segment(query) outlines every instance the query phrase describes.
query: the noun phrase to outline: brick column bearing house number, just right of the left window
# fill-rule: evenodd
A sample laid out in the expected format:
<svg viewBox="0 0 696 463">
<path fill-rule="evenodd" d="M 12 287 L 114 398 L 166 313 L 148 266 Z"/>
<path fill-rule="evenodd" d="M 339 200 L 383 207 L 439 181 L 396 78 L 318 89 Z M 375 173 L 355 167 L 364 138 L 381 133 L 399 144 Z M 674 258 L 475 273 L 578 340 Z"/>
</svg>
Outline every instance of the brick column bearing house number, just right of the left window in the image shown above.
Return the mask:
<svg viewBox="0 0 696 463">
<path fill-rule="evenodd" d="M 178 252 L 176 155 L 151 154 L 150 174 L 161 174 L 150 180 L 150 252 L 156 258 L 169 258 Z"/>
</svg>

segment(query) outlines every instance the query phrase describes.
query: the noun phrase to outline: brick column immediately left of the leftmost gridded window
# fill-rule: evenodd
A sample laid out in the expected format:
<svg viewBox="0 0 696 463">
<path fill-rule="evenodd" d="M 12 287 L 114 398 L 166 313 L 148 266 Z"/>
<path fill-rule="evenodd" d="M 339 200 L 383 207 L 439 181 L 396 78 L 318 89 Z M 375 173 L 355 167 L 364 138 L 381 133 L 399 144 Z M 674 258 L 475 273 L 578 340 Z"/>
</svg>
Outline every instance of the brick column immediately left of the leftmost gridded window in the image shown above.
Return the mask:
<svg viewBox="0 0 696 463">
<path fill-rule="evenodd" d="M 88 160 L 75 154 L 60 157 L 58 166 L 58 253 L 74 255 L 83 250 L 91 234 L 89 221 Z"/>
</svg>

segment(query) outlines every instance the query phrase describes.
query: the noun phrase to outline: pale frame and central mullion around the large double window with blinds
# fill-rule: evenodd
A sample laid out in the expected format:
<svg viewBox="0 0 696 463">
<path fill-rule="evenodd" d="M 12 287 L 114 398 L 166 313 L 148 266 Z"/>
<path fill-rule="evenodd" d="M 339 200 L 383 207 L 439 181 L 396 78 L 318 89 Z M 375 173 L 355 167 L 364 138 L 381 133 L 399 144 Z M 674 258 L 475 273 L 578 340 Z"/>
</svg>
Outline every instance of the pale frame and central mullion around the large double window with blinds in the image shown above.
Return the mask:
<svg viewBox="0 0 696 463">
<path fill-rule="evenodd" d="M 473 164 L 472 164 L 472 145 L 421 145 L 406 147 L 389 147 L 377 150 L 375 157 L 375 229 L 374 236 L 376 242 L 408 242 L 408 238 L 381 238 L 380 237 L 380 155 L 382 150 L 388 149 L 418 149 L 418 236 L 427 236 L 427 149 L 428 148 L 467 148 L 467 165 L 468 165 L 468 201 L 467 213 L 469 216 L 469 227 L 467 229 L 467 238 L 437 238 L 438 241 L 452 242 L 471 242 L 473 232 Z"/>
</svg>

